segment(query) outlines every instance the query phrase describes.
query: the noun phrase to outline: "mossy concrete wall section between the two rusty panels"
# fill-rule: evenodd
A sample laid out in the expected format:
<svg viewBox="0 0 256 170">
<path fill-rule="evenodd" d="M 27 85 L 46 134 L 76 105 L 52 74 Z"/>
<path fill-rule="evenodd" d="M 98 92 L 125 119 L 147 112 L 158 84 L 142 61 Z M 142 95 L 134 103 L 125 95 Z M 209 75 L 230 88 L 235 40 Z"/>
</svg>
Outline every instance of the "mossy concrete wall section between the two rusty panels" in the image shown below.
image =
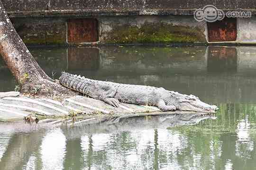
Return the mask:
<svg viewBox="0 0 256 170">
<path fill-rule="evenodd" d="M 101 43 L 205 43 L 205 27 L 192 16 L 99 18 Z"/>
</svg>

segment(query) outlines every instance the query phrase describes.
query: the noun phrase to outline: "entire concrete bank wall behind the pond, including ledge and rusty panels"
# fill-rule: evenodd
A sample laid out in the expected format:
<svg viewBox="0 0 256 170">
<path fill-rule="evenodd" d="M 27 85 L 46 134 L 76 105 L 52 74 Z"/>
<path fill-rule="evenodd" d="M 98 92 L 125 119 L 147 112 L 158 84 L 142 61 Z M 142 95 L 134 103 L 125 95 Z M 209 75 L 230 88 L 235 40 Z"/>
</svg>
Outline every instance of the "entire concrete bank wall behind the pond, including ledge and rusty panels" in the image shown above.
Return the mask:
<svg viewBox="0 0 256 170">
<path fill-rule="evenodd" d="M 255 44 L 253 0 L 3 0 L 27 45 Z M 193 12 L 215 5 L 251 18 L 198 22 Z"/>
</svg>

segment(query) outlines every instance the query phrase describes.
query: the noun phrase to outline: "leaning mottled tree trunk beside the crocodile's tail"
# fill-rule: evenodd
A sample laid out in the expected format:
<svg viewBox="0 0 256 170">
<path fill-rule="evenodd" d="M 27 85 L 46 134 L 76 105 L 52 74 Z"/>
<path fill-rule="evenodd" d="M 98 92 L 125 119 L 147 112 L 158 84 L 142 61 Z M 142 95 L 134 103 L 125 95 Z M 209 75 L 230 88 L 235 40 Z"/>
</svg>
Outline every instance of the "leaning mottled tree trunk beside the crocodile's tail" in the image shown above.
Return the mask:
<svg viewBox="0 0 256 170">
<path fill-rule="evenodd" d="M 0 0 L 0 54 L 22 92 L 72 93 L 55 83 L 38 65 L 13 27 Z"/>
</svg>

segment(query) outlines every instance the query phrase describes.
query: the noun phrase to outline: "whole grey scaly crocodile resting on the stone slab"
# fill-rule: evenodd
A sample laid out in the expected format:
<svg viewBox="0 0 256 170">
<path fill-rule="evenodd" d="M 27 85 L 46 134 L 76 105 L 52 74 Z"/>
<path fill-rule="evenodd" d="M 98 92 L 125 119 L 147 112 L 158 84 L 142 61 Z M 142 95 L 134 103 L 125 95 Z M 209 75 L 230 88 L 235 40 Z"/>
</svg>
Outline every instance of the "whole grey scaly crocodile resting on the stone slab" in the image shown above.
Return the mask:
<svg viewBox="0 0 256 170">
<path fill-rule="evenodd" d="M 119 102 L 122 102 L 156 106 L 162 111 L 185 110 L 215 113 L 218 109 L 217 106 L 206 104 L 194 95 L 180 94 L 164 88 L 97 81 L 67 72 L 62 72 L 59 82 L 66 88 L 102 100 L 114 107 L 119 107 Z"/>
</svg>

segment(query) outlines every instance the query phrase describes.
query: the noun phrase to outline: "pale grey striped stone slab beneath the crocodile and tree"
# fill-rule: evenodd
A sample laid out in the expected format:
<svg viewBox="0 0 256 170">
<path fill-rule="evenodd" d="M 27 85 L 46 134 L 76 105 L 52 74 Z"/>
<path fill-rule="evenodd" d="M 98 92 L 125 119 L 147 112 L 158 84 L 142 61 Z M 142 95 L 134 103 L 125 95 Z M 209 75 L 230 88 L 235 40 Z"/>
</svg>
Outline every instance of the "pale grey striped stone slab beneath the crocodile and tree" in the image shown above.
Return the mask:
<svg viewBox="0 0 256 170">
<path fill-rule="evenodd" d="M 67 98 L 63 103 L 46 98 L 13 97 L 19 93 L 1 93 L 0 98 L 0 120 L 21 119 L 31 113 L 46 116 L 64 116 L 72 112 L 83 114 L 118 114 L 129 115 L 134 113 L 154 113 L 159 112 L 157 107 L 146 107 L 127 103 L 120 103 L 120 107 L 111 105 L 93 98 L 75 96 Z M 11 96 L 11 97 L 9 97 Z"/>
</svg>

